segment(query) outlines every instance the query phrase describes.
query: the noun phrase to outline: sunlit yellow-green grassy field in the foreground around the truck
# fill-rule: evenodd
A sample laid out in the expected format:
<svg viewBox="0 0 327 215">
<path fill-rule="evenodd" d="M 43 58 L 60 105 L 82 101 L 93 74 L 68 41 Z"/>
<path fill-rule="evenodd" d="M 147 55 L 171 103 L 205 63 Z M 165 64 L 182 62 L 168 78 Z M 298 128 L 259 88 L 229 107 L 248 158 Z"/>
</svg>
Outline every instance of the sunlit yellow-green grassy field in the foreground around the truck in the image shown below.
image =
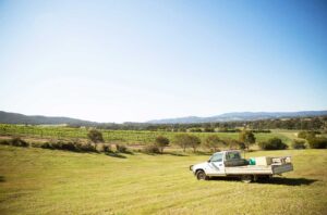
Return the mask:
<svg viewBox="0 0 327 215">
<path fill-rule="evenodd" d="M 197 181 L 207 156 L 83 154 L 0 146 L 0 214 L 327 214 L 327 150 L 293 155 L 270 184 Z"/>
</svg>

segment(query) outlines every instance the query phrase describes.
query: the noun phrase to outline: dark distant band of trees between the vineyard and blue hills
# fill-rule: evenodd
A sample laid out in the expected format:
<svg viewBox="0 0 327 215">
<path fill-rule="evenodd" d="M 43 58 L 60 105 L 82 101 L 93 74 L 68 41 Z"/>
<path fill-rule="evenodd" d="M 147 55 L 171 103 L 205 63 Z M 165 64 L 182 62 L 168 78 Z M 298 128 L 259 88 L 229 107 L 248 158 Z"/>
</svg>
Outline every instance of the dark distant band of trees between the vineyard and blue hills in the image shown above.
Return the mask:
<svg viewBox="0 0 327 215">
<path fill-rule="evenodd" d="M 296 129 L 296 130 L 323 130 L 327 131 L 327 116 L 274 118 L 259 121 L 237 121 L 198 124 L 146 124 L 146 123 L 105 123 L 105 124 L 70 124 L 69 127 L 95 127 L 112 130 L 152 130 L 177 132 L 240 132 L 246 127 L 253 132 L 269 132 L 269 129 Z"/>
</svg>

